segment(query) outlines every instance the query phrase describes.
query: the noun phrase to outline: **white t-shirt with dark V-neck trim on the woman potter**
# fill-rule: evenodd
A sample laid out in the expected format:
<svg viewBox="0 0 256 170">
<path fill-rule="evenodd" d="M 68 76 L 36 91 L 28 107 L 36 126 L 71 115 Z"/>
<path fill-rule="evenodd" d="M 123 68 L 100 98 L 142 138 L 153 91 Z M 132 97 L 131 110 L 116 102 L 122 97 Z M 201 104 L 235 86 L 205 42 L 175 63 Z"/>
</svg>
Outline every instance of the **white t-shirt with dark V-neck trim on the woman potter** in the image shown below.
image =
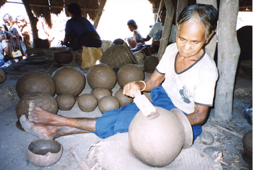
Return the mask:
<svg viewBox="0 0 256 170">
<path fill-rule="evenodd" d="M 173 104 L 185 113 L 193 113 L 195 104 L 212 106 L 214 88 L 218 78 L 218 69 L 212 57 L 205 52 L 200 59 L 177 73 L 175 61 L 177 44 L 167 46 L 156 70 L 165 74 L 163 88 Z"/>
</svg>

